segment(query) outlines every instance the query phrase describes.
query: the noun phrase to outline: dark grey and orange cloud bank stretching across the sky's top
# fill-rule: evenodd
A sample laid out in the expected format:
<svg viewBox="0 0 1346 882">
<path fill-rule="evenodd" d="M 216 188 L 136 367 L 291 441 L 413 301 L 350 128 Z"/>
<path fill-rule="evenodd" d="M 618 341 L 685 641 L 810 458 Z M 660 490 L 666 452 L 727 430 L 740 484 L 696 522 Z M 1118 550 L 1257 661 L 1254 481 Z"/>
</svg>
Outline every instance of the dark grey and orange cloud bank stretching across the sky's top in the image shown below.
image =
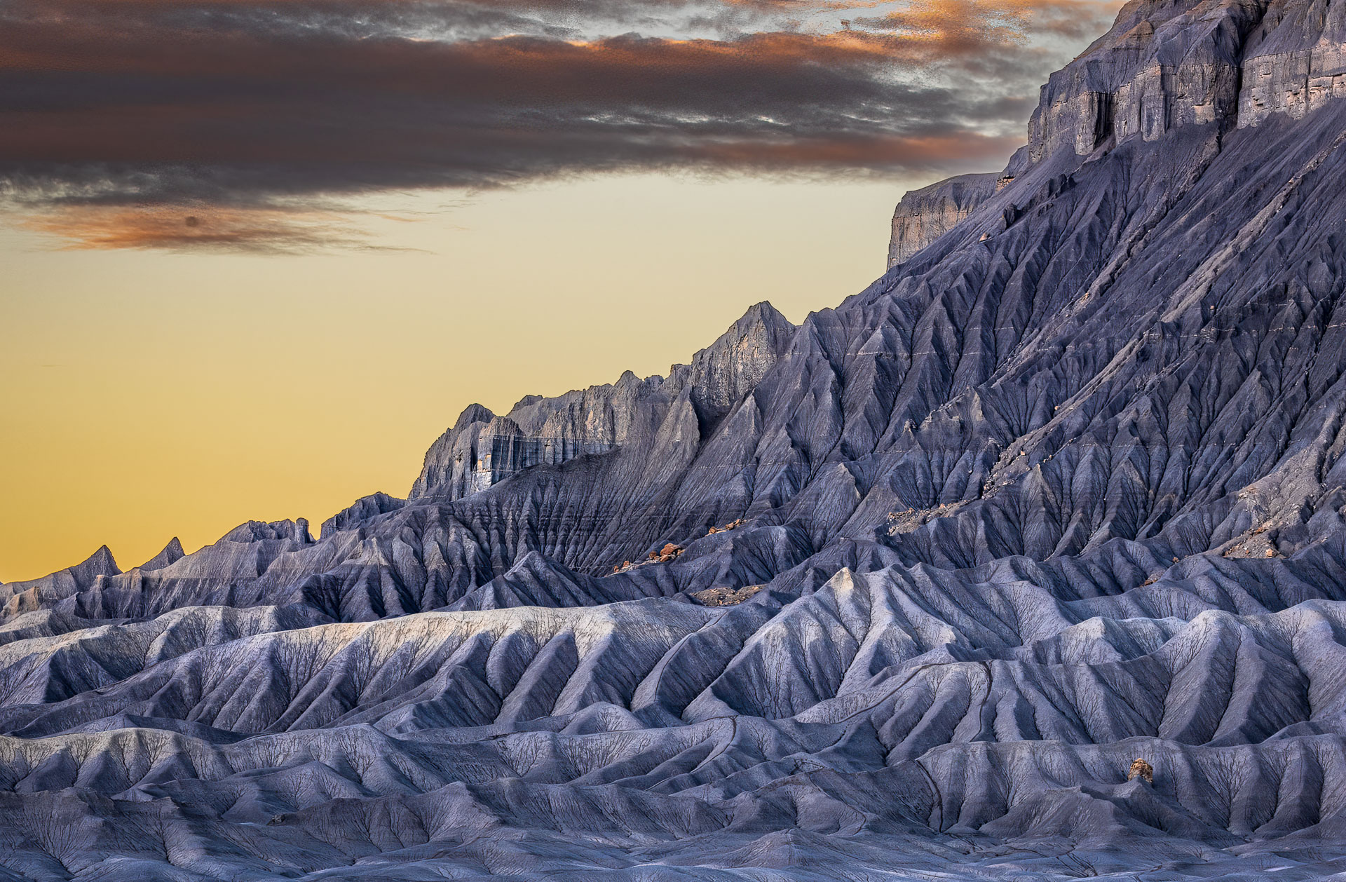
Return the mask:
<svg viewBox="0 0 1346 882">
<path fill-rule="evenodd" d="M 0 201 L 87 248 L 303 249 L 358 242 L 334 201 L 406 189 L 960 170 L 1022 137 L 1055 61 L 1035 35 L 1069 36 L 1085 8 L 1102 7 L 16 0 Z M 883 13 L 801 26 L 837 11 Z M 631 19 L 760 30 L 594 34 Z"/>
</svg>

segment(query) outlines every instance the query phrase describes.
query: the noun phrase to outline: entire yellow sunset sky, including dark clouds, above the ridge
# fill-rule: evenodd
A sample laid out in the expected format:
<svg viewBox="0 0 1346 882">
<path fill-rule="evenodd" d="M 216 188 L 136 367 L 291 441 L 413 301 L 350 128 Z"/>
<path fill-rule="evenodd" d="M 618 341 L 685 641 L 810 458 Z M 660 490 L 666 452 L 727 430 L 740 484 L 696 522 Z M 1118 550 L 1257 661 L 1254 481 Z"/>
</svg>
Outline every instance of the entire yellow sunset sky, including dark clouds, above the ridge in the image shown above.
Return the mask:
<svg viewBox="0 0 1346 882">
<path fill-rule="evenodd" d="M 1106 0 L 0 0 L 0 580 L 405 496 L 884 268 Z"/>
</svg>

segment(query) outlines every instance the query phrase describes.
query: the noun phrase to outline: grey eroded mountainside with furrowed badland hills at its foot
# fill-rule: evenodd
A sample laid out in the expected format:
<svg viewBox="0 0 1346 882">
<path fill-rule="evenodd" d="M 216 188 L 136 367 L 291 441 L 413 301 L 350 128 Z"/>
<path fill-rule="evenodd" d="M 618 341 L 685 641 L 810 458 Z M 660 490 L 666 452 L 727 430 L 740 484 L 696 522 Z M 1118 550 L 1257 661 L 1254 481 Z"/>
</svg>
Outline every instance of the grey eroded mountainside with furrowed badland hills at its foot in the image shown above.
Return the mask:
<svg viewBox="0 0 1346 882">
<path fill-rule="evenodd" d="M 1346 871 L 1341 15 L 1132 3 L 837 308 L 0 586 L 0 879 Z"/>
</svg>

